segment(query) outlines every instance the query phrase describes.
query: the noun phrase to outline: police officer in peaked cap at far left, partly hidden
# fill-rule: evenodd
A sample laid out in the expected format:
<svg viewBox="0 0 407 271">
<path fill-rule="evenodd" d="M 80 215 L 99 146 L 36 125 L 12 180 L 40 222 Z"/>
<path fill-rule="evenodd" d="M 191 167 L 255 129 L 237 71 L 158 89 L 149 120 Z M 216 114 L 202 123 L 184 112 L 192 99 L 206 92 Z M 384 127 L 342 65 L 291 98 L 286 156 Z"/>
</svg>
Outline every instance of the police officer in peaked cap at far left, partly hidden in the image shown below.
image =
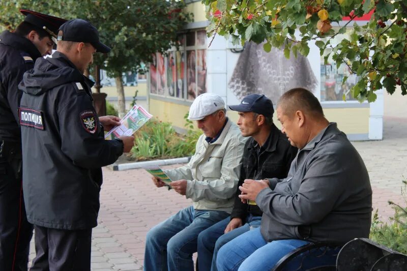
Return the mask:
<svg viewBox="0 0 407 271">
<path fill-rule="evenodd" d="M 51 53 L 66 20 L 29 10 L 14 32 L 0 34 L 0 270 L 26 270 L 33 226 L 27 222 L 21 187 L 18 83 L 37 58 Z"/>
</svg>

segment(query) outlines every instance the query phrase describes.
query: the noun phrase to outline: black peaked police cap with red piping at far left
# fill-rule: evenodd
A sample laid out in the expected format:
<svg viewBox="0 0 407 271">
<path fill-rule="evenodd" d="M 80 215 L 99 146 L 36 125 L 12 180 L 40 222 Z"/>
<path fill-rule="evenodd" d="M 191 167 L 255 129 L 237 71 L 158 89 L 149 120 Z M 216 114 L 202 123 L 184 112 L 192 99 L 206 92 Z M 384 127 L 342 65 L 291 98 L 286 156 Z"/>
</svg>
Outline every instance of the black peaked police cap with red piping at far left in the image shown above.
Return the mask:
<svg viewBox="0 0 407 271">
<path fill-rule="evenodd" d="M 67 20 L 35 12 L 32 10 L 20 9 L 20 12 L 25 16 L 24 21 L 32 25 L 37 26 L 40 29 L 44 29 L 51 38 L 54 38 L 56 42 L 56 34 L 58 28 Z"/>
</svg>

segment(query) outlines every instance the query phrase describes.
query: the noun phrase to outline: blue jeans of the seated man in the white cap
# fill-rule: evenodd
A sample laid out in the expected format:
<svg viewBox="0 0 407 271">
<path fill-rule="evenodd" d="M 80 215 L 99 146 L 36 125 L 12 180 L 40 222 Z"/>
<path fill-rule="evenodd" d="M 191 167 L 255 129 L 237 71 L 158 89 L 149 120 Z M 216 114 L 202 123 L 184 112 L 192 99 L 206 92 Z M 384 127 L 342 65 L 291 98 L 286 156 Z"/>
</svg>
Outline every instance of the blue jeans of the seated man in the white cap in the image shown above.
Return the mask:
<svg viewBox="0 0 407 271">
<path fill-rule="evenodd" d="M 194 270 L 199 232 L 230 215 L 223 211 L 195 210 L 192 206 L 161 222 L 147 233 L 144 270 Z"/>
</svg>

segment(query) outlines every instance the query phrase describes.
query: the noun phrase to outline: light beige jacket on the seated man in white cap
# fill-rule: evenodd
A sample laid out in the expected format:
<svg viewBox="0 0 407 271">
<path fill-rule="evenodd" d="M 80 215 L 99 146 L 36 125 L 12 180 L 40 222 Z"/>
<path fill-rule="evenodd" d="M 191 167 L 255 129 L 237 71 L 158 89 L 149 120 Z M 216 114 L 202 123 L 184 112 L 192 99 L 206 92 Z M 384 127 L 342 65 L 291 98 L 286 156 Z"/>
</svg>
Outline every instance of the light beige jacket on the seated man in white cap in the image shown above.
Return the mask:
<svg viewBox="0 0 407 271">
<path fill-rule="evenodd" d="M 227 121 L 219 138 L 212 144 L 202 134 L 188 165 L 166 170 L 172 180 L 188 181 L 186 197 L 199 210 L 230 213 L 239 182 L 243 148 L 246 142 L 238 126 Z"/>
</svg>

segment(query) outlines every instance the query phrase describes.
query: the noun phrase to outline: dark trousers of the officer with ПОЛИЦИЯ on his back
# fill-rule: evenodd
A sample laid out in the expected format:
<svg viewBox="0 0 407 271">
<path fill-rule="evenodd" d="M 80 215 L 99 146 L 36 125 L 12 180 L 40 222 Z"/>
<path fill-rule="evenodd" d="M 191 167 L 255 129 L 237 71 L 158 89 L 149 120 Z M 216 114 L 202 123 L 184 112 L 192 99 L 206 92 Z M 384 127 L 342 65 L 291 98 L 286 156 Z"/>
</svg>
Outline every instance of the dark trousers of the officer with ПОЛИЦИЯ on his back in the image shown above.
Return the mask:
<svg viewBox="0 0 407 271">
<path fill-rule="evenodd" d="M 37 255 L 30 271 L 90 271 L 92 229 L 61 230 L 34 225 Z"/>
</svg>

